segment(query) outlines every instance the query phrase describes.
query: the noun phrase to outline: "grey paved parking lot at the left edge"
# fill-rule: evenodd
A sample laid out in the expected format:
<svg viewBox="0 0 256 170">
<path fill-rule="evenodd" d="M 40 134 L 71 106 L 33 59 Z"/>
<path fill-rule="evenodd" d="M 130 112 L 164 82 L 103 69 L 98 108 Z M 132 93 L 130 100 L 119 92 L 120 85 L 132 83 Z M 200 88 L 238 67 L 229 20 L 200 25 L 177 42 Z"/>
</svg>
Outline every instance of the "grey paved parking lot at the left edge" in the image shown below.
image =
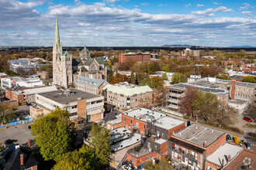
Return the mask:
<svg viewBox="0 0 256 170">
<path fill-rule="evenodd" d="M 29 139 L 34 137 L 31 135 L 31 129 L 29 129 L 30 124 L 19 124 L 10 128 L 0 130 L 0 143 L 7 139 L 18 140 L 16 144 L 22 145 L 25 144 Z"/>
</svg>

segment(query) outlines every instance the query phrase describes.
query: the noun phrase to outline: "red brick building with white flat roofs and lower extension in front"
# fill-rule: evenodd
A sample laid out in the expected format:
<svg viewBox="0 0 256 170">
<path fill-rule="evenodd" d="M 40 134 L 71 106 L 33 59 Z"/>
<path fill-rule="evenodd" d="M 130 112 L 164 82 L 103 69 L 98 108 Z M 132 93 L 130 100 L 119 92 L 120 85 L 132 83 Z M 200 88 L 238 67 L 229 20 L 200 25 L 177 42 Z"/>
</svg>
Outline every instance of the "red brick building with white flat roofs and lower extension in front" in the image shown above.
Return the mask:
<svg viewBox="0 0 256 170">
<path fill-rule="evenodd" d="M 128 151 L 126 160 L 140 168 L 145 163 L 168 154 L 168 138 L 185 128 L 184 121 L 157 111 L 140 108 L 121 114 L 121 126 L 142 136 L 141 145 Z"/>
</svg>

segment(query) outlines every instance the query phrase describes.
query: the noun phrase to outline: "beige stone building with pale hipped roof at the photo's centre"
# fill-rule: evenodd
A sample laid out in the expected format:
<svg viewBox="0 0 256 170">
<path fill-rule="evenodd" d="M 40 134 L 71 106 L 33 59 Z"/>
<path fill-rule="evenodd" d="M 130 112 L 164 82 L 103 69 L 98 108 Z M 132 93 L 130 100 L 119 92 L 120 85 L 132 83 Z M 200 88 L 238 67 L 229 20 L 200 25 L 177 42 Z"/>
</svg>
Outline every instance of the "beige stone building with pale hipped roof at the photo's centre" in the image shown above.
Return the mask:
<svg viewBox="0 0 256 170">
<path fill-rule="evenodd" d="M 108 84 L 103 88 L 106 102 L 123 109 L 134 109 L 141 104 L 152 104 L 153 90 L 148 86 L 137 86 L 122 82 Z"/>
</svg>

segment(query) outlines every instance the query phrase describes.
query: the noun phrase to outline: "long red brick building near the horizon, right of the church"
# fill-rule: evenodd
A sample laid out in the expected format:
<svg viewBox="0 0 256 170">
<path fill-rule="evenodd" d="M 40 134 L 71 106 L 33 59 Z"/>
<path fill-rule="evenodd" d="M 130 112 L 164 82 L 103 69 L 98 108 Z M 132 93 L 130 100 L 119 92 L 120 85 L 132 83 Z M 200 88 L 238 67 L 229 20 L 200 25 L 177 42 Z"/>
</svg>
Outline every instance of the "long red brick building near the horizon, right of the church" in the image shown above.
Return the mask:
<svg viewBox="0 0 256 170">
<path fill-rule="evenodd" d="M 121 53 L 118 56 L 119 63 L 136 61 L 137 63 L 150 63 L 150 53 Z"/>
</svg>

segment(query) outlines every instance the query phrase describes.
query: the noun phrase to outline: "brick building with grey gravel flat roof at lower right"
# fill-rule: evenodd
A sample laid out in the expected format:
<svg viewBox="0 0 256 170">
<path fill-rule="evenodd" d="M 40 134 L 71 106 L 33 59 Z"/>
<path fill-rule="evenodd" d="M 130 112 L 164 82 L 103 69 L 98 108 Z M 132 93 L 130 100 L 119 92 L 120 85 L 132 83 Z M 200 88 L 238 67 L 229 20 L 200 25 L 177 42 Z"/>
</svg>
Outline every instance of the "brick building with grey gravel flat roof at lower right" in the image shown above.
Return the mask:
<svg viewBox="0 0 256 170">
<path fill-rule="evenodd" d="M 189 168 L 206 169 L 206 158 L 226 142 L 226 134 L 213 128 L 192 124 L 171 136 L 168 155 L 173 162 Z"/>
</svg>

